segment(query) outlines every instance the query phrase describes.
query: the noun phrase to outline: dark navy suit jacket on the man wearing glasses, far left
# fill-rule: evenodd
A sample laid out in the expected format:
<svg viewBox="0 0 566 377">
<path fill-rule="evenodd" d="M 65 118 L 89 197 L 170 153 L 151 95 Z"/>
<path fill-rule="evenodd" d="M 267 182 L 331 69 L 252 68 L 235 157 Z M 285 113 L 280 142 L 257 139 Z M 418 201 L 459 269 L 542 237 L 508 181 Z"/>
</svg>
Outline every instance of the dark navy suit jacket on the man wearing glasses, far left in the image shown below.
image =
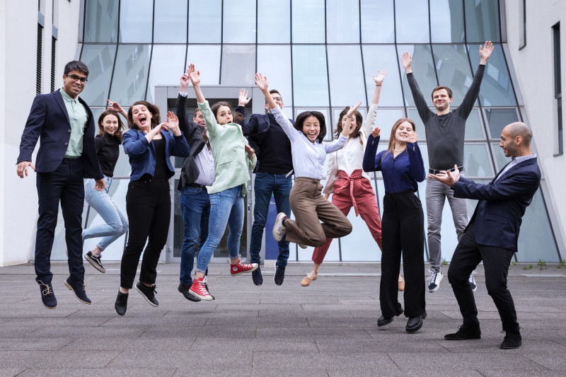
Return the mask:
<svg viewBox="0 0 566 377">
<path fill-rule="evenodd" d="M 96 125 L 93 113 L 80 97 L 79 102 L 88 112 L 88 121 L 83 136 L 83 154 L 80 157 L 85 170 L 85 178 L 100 180 L 103 178 L 103 173 L 98 164 L 94 145 Z M 58 90 L 35 96 L 28 121 L 23 129 L 18 163 L 31 161 L 38 138 L 40 138 L 40 149 L 35 159 L 35 171 L 51 173 L 63 161 L 71 138 L 69 114 L 67 114 L 63 97 Z"/>
</svg>

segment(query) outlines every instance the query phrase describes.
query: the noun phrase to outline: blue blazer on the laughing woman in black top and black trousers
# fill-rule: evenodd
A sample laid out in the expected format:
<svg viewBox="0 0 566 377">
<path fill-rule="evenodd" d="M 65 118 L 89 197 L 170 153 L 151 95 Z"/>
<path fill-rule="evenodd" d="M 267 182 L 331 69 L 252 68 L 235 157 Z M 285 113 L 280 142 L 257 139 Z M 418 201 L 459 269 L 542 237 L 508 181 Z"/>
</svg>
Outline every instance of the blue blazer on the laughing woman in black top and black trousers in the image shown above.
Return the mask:
<svg viewBox="0 0 566 377">
<path fill-rule="evenodd" d="M 169 168 L 169 177 L 175 175 L 175 169 L 171 164 L 171 155 L 178 157 L 189 156 L 189 144 L 185 140 L 183 134 L 174 136 L 171 132 L 162 131 L 161 135 L 165 140 L 165 154 L 167 167 Z M 139 180 L 141 175 L 155 173 L 155 146 L 152 140 L 149 143 L 146 139 L 146 134 L 137 129 L 128 129 L 127 132 L 122 134 L 122 146 L 124 146 L 125 153 L 129 156 L 129 165 L 132 166 L 132 173 L 129 180 Z"/>
</svg>

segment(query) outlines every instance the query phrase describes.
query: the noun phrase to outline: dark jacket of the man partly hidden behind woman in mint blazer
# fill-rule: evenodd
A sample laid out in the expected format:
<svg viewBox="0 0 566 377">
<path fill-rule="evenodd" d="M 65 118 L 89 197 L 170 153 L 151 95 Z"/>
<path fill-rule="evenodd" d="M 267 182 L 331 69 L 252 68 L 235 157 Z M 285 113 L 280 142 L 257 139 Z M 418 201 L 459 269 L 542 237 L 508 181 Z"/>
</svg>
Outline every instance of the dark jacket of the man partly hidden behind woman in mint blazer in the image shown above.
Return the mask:
<svg viewBox="0 0 566 377">
<path fill-rule="evenodd" d="M 206 142 L 202 138 L 204 127 L 187 119 L 187 97 L 183 97 L 180 94 L 177 95 L 175 113 L 179 118 L 179 128 L 190 146 L 190 154 L 183 160 L 183 168 L 181 168 L 180 180 L 177 186 L 177 190 L 181 190 L 182 187 L 194 183 L 199 178 L 200 172 L 197 168 L 195 157 L 202 151 Z"/>
</svg>

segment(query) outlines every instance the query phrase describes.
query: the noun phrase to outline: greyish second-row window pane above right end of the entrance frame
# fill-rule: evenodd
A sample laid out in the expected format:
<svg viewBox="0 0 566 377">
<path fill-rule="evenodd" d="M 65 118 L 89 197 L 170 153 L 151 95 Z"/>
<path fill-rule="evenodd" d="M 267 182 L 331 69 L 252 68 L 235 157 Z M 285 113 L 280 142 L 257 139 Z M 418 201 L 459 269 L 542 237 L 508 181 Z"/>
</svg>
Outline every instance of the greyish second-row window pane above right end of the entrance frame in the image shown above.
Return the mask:
<svg viewBox="0 0 566 377">
<path fill-rule="evenodd" d="M 255 85 L 255 45 L 222 47 L 221 85 Z"/>
</svg>

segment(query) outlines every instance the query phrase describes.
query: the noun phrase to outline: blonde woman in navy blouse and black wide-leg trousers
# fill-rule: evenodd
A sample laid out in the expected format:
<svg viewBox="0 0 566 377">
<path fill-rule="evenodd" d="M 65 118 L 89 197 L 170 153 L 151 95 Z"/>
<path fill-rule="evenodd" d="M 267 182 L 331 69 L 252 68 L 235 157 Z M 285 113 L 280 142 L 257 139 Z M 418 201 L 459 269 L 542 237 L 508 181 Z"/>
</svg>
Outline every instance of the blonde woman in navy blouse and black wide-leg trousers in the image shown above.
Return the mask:
<svg viewBox="0 0 566 377">
<path fill-rule="evenodd" d="M 427 317 L 424 311 L 424 215 L 415 195 L 417 182 L 422 182 L 426 175 L 415 130 L 415 122 L 401 118 L 393 124 L 387 149 L 376 156 L 380 132 L 376 127 L 368 138 L 363 163 L 365 171 L 381 170 L 385 185 L 379 286 L 382 315 L 377 325 L 387 325 L 395 315 L 403 313 L 397 300 L 397 277 L 403 253 L 407 332 L 419 330 Z"/>
</svg>

